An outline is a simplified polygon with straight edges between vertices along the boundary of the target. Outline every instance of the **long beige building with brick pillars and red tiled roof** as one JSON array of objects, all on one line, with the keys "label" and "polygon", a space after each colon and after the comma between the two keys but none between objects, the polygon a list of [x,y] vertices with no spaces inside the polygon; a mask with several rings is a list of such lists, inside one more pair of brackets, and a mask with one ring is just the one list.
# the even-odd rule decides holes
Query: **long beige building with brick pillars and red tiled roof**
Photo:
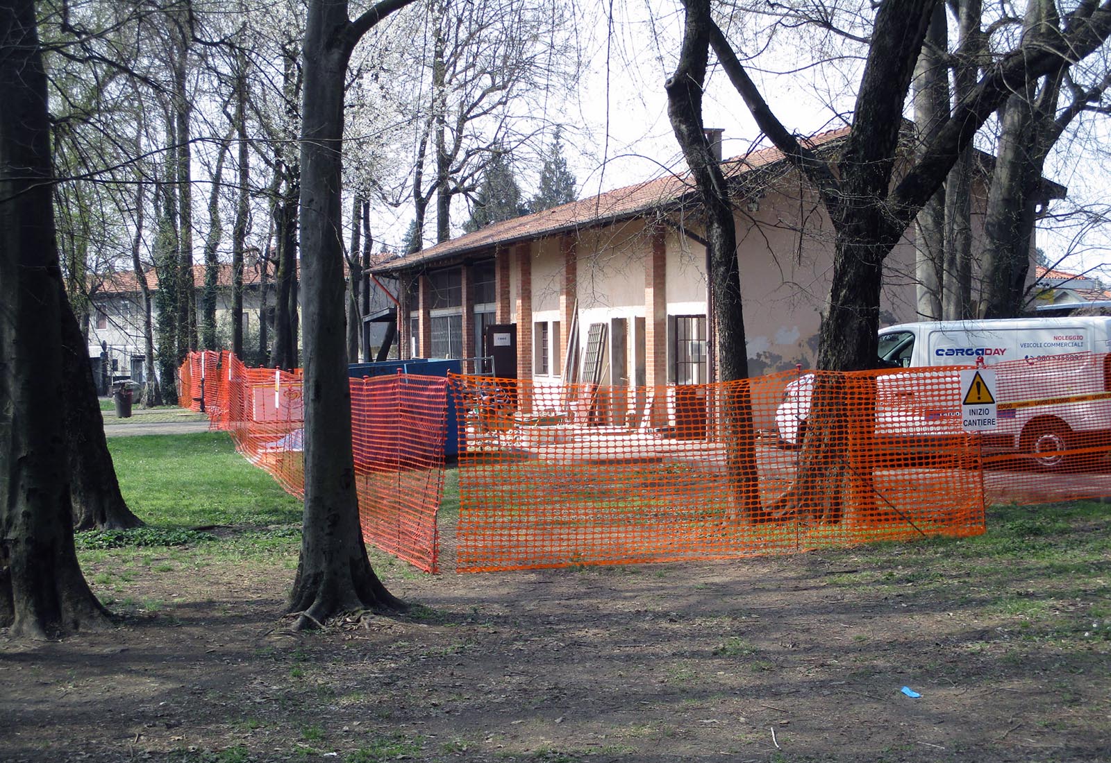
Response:
[{"label": "long beige building with brick pillars and red tiled roof", "polygon": [[[810,144],[832,156],[847,134],[823,133]],[[720,131],[708,138],[720,151]],[[810,367],[830,291],[832,225],[777,149],[721,166],[735,200],[750,372]],[[1063,193],[1048,187],[1050,195]],[[689,176],[670,174],[376,266],[376,274],[404,285],[403,355],[497,358],[502,350],[489,343],[497,327],[500,340],[514,345],[512,375],[540,385],[713,380],[713,309],[695,196]],[[978,183],[974,251],[982,248],[984,204]],[[918,319],[913,236],[912,227],[884,264],[883,324]],[[496,369],[499,376],[507,363]]]}]

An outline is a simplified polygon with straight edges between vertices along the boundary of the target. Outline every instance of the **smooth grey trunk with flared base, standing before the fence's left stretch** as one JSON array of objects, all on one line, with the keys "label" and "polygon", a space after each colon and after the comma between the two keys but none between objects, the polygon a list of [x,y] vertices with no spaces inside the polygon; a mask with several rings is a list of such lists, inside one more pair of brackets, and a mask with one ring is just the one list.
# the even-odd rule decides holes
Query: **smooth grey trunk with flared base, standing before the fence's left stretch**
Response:
[{"label": "smooth grey trunk with flared base, standing before the fence's left stretch", "polygon": [[409,0],[383,0],[358,21],[347,2],[312,0],[304,39],[301,242],[304,283],[304,522],[289,611],[309,628],[351,610],[404,604],[379,581],[359,526],[351,389],[343,337],[341,226],[343,82],[362,33]]}]

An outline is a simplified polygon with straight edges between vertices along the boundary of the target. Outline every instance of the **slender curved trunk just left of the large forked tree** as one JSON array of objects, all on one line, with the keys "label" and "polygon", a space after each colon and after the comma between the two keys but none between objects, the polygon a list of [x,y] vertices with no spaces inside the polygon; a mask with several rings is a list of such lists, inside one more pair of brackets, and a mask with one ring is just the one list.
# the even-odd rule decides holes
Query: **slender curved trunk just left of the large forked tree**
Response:
[{"label": "slender curved trunk just left of the large forked tree", "polygon": [[[709,57],[710,3],[688,2],[683,44],[675,73],[668,80],[668,118],[702,200],[705,240],[710,254],[710,284],[717,328],[721,380],[747,379],[748,352],[737,260],[737,224],[732,201],[702,125],[702,84]],[[730,519],[739,516],[758,521],[760,482],[755,460],[755,429],[747,385],[731,385],[722,401],[727,468],[732,484]]]}]

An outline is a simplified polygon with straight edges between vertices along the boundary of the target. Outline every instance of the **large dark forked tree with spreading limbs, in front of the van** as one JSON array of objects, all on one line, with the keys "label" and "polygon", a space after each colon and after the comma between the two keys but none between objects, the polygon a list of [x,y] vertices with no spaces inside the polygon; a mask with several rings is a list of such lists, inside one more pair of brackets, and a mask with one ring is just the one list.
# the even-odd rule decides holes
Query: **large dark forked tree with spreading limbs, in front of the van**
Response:
[{"label": "large dark forked tree with spreading limbs, in front of the van", "polygon": [[[1017,88],[1082,58],[1111,34],[1111,0],[1084,4],[1065,17],[1061,34],[1020,43],[987,67],[965,100],[939,121],[925,146],[898,181],[902,110],[935,0],[887,0],[875,14],[853,123],[837,159],[828,162],[793,136],[772,113],[744,65],[711,18],[709,0],[684,0],[688,34],[708,29],[710,44],[760,129],[815,189],[834,230],[833,274],[819,334],[818,367],[869,368],[877,355],[883,262],[914,216],[937,193],[977,130]],[[721,194],[695,174],[704,199]],[[729,204],[728,196],[722,203]],[[711,245],[712,246],[712,245]],[[713,254],[711,253],[711,256]],[[727,253],[734,256],[735,253]],[[780,517],[841,517],[845,476],[845,389],[820,376],[794,486],[771,507]]]}]

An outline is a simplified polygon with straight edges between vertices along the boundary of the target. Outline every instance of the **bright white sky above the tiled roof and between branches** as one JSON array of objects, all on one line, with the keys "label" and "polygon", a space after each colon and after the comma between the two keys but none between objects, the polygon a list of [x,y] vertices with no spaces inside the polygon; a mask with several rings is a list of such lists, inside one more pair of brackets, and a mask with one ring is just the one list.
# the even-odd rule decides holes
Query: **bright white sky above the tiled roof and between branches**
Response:
[{"label": "bright white sky above the tiled roof and between branches", "polygon": [[[579,197],[659,176],[685,165],[667,116],[663,83],[673,71],[682,33],[682,11],[678,0],[577,0],[578,26],[587,60],[587,71],[577,93],[563,103],[552,103],[539,114],[544,122],[562,122],[564,153],[579,182]],[[742,27],[743,29],[743,27]],[[751,30],[750,30],[751,31]],[[804,65],[811,50],[770,50],[750,64],[750,74],[761,85],[772,110],[789,130],[813,134],[844,124],[854,98],[852,62],[825,64],[794,74],[762,73],[760,67],[791,70]],[[793,44],[798,44],[794,42]],[[759,136],[748,109],[720,71],[711,73],[703,101],[707,126],[724,129],[725,156],[745,153]],[[832,108],[831,105],[832,104]],[[1105,139],[1105,129],[1099,130]],[[1107,142],[1105,140],[1103,142]],[[1089,152],[1090,153],[1090,152]],[[1051,157],[1047,176],[1067,185],[1070,194],[1103,201],[1108,179],[1102,162],[1094,156]],[[519,173],[526,195],[533,192],[534,177]],[[1111,200],[1108,200],[1111,201]],[[1060,210],[1061,204],[1054,206]],[[457,200],[452,217],[460,224],[467,216],[466,202]],[[400,242],[411,220],[411,208],[387,212],[378,222],[384,243]],[[434,222],[430,223],[434,226]],[[426,228],[426,236],[432,227]],[[1061,267],[1074,272],[1095,267],[1099,277],[1111,282],[1111,236],[1099,227],[1040,231],[1038,243],[1051,260],[1064,256]]]}]

